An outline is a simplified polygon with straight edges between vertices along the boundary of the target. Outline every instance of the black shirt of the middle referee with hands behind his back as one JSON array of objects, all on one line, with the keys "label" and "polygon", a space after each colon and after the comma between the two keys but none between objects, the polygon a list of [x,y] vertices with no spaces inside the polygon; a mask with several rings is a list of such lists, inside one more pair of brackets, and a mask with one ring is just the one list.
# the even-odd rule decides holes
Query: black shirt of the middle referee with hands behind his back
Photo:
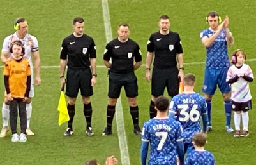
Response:
[{"label": "black shirt of the middle referee with hands behind his back", "polygon": [[141,62],[142,56],[139,45],[132,39],[122,43],[118,39],[110,41],[105,49],[103,59],[112,58],[111,72],[125,74],[133,72],[133,59]]}]

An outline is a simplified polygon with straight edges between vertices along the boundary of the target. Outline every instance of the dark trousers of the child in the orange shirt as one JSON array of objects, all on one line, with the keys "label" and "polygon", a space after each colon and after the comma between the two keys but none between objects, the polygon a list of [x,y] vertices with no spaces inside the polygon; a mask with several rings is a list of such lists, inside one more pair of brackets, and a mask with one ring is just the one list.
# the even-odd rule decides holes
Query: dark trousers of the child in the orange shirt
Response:
[{"label": "dark trousers of the child in the orange shirt", "polygon": [[27,111],[26,111],[26,103],[22,102],[22,99],[14,99],[13,101],[10,102],[11,133],[17,133],[18,107],[19,107],[19,116],[20,116],[20,130],[21,130],[21,133],[26,134]]}]

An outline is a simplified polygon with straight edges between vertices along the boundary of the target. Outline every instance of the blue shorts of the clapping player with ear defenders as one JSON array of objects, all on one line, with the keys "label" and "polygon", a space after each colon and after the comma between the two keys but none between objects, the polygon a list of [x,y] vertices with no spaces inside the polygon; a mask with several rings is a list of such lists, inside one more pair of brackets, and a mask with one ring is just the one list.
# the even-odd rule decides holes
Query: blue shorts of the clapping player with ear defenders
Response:
[{"label": "blue shorts of the clapping player with ear defenders", "polygon": [[227,70],[226,69],[208,69],[206,68],[204,72],[204,86],[202,87],[202,91],[208,95],[215,94],[215,91],[218,88],[222,93],[229,93],[230,86],[226,82],[227,78]]}]

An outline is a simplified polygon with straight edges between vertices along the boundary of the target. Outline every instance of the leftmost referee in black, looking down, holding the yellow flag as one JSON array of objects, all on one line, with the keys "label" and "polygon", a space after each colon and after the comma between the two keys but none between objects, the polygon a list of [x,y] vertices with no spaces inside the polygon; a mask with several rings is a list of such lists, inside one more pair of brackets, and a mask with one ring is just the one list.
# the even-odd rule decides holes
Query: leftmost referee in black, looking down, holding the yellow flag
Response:
[{"label": "leftmost referee in black, looking down, holding the yellow flag", "polygon": [[[75,101],[81,92],[84,103],[84,116],[86,117],[86,133],[94,135],[91,128],[92,107],[90,96],[93,95],[93,86],[96,84],[96,47],[93,39],[84,34],[84,19],[76,17],[73,20],[73,34],[63,40],[61,46],[60,78],[61,86],[66,83],[68,96],[68,128],[63,136],[73,134],[73,118],[75,116]],[[66,80],[64,72],[68,65]],[[91,66],[91,68],[90,68]]]}]

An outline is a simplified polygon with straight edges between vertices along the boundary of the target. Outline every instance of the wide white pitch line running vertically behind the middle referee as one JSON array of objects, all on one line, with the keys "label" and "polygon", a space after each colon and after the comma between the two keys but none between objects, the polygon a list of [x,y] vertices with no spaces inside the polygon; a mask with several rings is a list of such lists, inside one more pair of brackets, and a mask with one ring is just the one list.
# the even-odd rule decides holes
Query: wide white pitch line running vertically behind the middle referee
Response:
[{"label": "wide white pitch line running vertically behind the middle referee", "polygon": [[[103,11],[103,20],[106,34],[106,41],[112,40],[112,31],[109,17],[109,4],[107,0],[102,0],[102,11]],[[117,133],[119,140],[119,149],[121,152],[121,164],[130,165],[129,151],[126,140],[126,134],[124,129],[124,119],[123,119],[123,107],[121,103],[121,98],[117,100],[116,103],[116,124],[117,124]]]}]

